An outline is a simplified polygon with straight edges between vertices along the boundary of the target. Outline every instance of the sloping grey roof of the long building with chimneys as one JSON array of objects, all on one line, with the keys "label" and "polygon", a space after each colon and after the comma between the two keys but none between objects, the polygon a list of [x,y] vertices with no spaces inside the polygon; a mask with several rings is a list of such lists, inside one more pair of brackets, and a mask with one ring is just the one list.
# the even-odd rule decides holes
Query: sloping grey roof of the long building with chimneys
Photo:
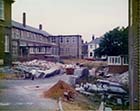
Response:
[{"label": "sloping grey roof of the long building with chimneys", "polygon": [[29,25],[26,25],[26,27],[24,27],[22,23],[19,23],[19,22],[13,21],[13,20],[12,20],[12,27],[26,30],[26,31],[30,31],[30,32],[34,32],[34,33],[38,33],[38,34],[42,34],[44,36],[50,36],[50,34],[44,30],[40,30],[40,29],[31,27]]}]

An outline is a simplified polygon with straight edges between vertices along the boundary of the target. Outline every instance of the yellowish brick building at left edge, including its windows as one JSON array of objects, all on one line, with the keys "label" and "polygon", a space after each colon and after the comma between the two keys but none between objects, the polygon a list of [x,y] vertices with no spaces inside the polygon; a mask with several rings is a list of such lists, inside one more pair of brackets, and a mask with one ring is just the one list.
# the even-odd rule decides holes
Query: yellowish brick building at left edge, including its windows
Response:
[{"label": "yellowish brick building at left edge, including its windows", "polygon": [[0,65],[11,64],[11,4],[13,0],[0,0]]}]

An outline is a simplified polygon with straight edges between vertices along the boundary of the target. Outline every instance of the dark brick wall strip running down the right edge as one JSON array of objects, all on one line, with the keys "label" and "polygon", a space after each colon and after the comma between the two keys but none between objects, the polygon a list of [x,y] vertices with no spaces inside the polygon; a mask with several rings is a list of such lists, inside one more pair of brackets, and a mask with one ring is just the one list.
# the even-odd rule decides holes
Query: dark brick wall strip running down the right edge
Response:
[{"label": "dark brick wall strip running down the right edge", "polygon": [[129,0],[130,110],[140,110],[140,0]]}]

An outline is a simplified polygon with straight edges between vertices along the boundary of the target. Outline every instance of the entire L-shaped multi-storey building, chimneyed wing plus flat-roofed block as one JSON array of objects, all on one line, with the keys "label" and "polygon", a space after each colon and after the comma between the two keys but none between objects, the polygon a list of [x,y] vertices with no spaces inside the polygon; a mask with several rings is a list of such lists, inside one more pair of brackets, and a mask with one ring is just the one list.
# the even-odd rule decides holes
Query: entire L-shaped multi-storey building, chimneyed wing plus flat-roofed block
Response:
[{"label": "entire L-shaped multi-storey building, chimneyed wing plus flat-roofed block", "polygon": [[80,35],[53,36],[39,28],[12,21],[12,58],[13,60],[45,58],[81,58],[82,39]]}]

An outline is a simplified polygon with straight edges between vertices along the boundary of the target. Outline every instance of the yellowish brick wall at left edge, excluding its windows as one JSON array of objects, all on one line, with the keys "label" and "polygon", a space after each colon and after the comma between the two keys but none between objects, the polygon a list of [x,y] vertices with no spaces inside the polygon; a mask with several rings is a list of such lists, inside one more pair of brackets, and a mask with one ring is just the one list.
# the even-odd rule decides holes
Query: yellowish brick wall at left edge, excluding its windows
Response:
[{"label": "yellowish brick wall at left edge, excluding its windows", "polygon": [[[5,35],[8,36],[9,46],[11,46],[11,3],[13,0],[4,0],[4,20],[0,20],[0,60],[4,65],[11,64],[11,47],[10,51],[5,53]],[[3,65],[3,64],[0,64]]]}]

